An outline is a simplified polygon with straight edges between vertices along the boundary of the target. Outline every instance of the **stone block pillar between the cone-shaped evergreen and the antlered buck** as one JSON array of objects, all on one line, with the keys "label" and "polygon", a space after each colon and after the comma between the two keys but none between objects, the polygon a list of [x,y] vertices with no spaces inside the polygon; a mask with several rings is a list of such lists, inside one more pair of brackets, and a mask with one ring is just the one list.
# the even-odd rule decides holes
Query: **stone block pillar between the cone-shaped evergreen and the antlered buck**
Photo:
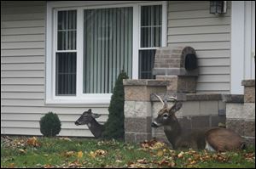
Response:
[{"label": "stone block pillar between the cone-shaped evergreen and the antlered buck", "polygon": [[142,142],[152,138],[151,93],[164,93],[169,82],[158,80],[124,80],[125,142]]}]

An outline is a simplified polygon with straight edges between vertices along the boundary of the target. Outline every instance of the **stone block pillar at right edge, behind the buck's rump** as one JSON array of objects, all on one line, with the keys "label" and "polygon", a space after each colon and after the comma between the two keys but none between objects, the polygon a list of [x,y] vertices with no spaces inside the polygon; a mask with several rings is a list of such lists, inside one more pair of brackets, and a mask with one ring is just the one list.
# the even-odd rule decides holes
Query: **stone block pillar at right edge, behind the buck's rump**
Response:
[{"label": "stone block pillar at right edge, behind the buck's rump", "polygon": [[235,130],[249,144],[255,144],[255,80],[242,81],[244,99],[240,103],[227,104],[228,128]]}]

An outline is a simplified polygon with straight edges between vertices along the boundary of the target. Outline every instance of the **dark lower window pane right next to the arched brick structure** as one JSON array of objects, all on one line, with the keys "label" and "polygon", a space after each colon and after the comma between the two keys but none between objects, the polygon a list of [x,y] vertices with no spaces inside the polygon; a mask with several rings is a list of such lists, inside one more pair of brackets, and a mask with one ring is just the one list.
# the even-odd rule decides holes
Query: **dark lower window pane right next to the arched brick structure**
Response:
[{"label": "dark lower window pane right next to the arched brick structure", "polygon": [[152,69],[154,68],[155,49],[139,51],[139,78],[154,79]]}]

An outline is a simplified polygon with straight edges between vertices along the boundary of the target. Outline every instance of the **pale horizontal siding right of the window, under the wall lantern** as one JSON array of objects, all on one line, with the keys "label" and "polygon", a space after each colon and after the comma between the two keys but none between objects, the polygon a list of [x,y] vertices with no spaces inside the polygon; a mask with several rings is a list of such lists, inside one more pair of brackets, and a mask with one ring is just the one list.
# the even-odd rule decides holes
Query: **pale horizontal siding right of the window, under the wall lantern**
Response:
[{"label": "pale horizontal siding right of the window, under the wall lantern", "polygon": [[230,2],[209,13],[209,1],[168,3],[168,46],[191,46],[198,56],[198,93],[230,93]]}]

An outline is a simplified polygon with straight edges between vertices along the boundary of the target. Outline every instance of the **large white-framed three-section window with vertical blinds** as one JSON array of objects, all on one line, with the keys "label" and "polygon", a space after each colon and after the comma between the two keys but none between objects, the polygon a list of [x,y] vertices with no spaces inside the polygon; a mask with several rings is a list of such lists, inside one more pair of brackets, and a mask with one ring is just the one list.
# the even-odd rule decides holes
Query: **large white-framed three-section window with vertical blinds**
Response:
[{"label": "large white-framed three-section window with vertical blinds", "polygon": [[155,50],[165,44],[164,2],[89,3],[48,3],[46,102],[108,103],[121,70],[154,78]]}]

